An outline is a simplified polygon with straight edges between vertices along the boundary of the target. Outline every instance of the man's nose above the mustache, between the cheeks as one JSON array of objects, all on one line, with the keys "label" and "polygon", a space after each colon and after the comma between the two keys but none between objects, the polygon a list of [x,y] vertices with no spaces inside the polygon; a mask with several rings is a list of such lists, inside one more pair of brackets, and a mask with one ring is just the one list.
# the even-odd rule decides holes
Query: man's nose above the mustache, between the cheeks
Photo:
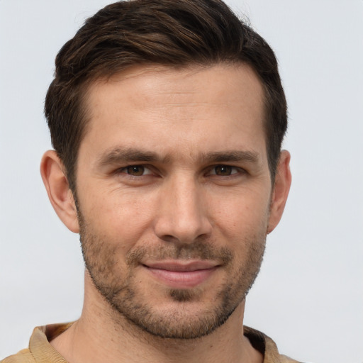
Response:
[{"label": "man's nose above the mustache, between the cheeks", "polygon": [[174,177],[160,190],[155,218],[158,238],[181,244],[211,235],[208,203],[193,177]]}]

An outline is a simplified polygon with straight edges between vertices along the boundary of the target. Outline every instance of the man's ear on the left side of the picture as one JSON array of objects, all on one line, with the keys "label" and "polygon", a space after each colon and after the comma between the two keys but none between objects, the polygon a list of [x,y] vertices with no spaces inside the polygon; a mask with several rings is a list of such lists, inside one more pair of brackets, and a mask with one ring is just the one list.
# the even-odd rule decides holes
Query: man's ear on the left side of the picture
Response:
[{"label": "man's ear on the left side of the picture", "polygon": [[54,150],[48,150],[43,155],[40,174],[55,213],[69,230],[79,233],[77,208],[65,176],[65,167]]}]

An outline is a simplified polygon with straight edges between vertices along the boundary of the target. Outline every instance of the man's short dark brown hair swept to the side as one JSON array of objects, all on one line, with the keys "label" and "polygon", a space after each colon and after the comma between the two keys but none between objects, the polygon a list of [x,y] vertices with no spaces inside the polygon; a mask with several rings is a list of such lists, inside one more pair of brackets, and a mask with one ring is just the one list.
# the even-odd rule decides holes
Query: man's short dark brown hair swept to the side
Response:
[{"label": "man's short dark brown hair swept to the side", "polygon": [[131,0],[108,5],[87,19],[55,60],[45,116],[72,191],[86,127],[87,85],[133,65],[220,62],[250,65],[264,86],[267,155],[274,180],[287,115],[277,60],[269,45],[220,0]]}]

